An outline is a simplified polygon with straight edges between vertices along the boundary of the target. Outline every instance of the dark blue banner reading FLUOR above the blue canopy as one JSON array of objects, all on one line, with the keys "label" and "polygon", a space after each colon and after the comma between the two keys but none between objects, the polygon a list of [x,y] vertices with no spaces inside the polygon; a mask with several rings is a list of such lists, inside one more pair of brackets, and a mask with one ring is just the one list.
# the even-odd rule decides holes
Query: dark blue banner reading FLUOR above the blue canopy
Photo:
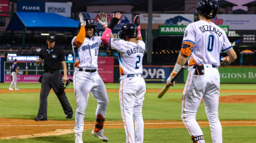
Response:
[{"label": "dark blue banner reading FLUOR above the blue canopy", "polygon": [[45,12],[45,2],[17,1],[17,12]]}]

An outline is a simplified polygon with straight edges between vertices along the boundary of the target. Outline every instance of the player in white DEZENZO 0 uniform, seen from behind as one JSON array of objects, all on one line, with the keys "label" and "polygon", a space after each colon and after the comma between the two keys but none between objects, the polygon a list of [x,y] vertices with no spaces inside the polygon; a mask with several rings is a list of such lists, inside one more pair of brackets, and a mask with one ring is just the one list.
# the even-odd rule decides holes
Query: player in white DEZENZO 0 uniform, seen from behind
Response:
[{"label": "player in white DEZENZO 0 uniform, seen from behind", "polygon": [[[225,31],[212,23],[219,5],[215,0],[201,0],[197,5],[200,21],[187,25],[184,31],[182,47],[178,60],[167,79],[167,85],[173,86],[171,79],[180,68],[189,64],[189,74],[182,93],[182,121],[194,143],[204,142],[204,135],[195,119],[198,106],[204,100],[205,111],[214,143],[222,143],[218,105],[220,96],[220,73],[218,66],[234,62],[237,55],[229,42]],[[221,59],[220,52],[228,56]]]}]

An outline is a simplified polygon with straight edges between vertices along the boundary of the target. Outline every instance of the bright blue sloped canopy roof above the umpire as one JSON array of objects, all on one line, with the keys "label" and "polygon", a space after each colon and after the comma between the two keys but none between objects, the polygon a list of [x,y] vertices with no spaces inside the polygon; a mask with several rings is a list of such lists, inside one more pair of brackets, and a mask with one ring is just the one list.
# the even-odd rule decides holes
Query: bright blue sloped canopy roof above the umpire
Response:
[{"label": "bright blue sloped canopy roof above the umpire", "polygon": [[[26,31],[76,31],[78,21],[55,13],[15,12],[6,31],[22,31],[25,44]],[[44,40],[45,41],[45,40]]]}]

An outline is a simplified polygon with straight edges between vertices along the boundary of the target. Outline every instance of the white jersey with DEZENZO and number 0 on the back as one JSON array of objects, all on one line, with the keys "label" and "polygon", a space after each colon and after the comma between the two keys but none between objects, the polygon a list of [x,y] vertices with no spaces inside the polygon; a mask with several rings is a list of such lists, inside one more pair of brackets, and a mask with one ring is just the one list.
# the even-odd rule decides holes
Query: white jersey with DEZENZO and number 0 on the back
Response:
[{"label": "white jersey with DEZENZO and number 0 on the back", "polygon": [[182,42],[191,42],[191,60],[196,64],[220,66],[220,52],[232,48],[223,29],[206,21],[197,21],[187,25]]}]

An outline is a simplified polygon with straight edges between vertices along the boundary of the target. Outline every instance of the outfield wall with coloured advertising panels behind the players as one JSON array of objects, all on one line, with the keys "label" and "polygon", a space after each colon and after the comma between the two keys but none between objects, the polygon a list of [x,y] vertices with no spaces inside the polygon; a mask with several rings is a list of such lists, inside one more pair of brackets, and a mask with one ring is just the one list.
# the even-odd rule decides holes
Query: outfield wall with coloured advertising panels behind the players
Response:
[{"label": "outfield wall with coloured advertising panels behind the players", "polygon": [[[98,72],[100,77],[106,83],[119,82],[119,66],[114,65],[114,59],[99,60]],[[1,62],[3,63],[3,62]],[[1,64],[1,82],[11,82],[10,66],[12,62],[4,62]],[[43,73],[43,66],[37,65],[35,62],[18,63],[19,77],[18,82],[37,82],[37,79]],[[173,66],[143,66],[143,77],[147,83],[165,83],[169,74],[173,70]],[[256,66],[228,66],[220,67],[221,83],[256,83]],[[72,79],[74,73],[74,63],[67,63],[67,75]],[[175,80],[176,83],[184,83],[186,81],[188,71],[183,71]]]}]

